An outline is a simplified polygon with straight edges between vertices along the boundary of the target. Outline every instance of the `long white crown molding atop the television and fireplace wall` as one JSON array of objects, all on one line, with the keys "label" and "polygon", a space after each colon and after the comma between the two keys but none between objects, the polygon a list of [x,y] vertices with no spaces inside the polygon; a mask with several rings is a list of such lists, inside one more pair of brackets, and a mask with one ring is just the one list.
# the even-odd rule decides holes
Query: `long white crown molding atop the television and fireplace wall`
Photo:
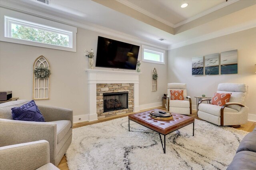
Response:
[{"label": "long white crown molding atop the television and fireplace wall", "polygon": [[22,13],[29,14],[32,16],[37,16],[40,18],[45,18],[45,19],[48,19],[51,21],[60,22],[63,24],[68,24],[71,26],[84,28],[86,30],[91,30],[94,32],[106,34],[109,36],[121,38],[121,39],[128,40],[131,42],[141,43],[144,45],[150,45],[150,46],[153,46],[153,47],[156,47],[159,49],[167,50],[167,45],[157,44],[155,42],[150,42],[150,40],[145,40],[145,39],[143,40],[142,38],[138,38],[138,37],[132,36],[130,34],[126,34],[123,32],[116,31],[116,30],[112,30],[110,28],[92,24],[90,22],[85,22],[85,21],[81,21],[81,20],[77,20],[77,19],[75,20],[73,18],[69,18],[66,16],[60,16],[58,14],[54,14],[52,12],[47,12],[47,11],[41,10],[39,8],[33,8],[31,6],[26,6],[22,3],[20,3],[19,1],[14,2],[14,1],[8,1],[8,0],[1,0],[0,7],[7,8],[9,10],[15,10],[17,12],[22,12]]}]

